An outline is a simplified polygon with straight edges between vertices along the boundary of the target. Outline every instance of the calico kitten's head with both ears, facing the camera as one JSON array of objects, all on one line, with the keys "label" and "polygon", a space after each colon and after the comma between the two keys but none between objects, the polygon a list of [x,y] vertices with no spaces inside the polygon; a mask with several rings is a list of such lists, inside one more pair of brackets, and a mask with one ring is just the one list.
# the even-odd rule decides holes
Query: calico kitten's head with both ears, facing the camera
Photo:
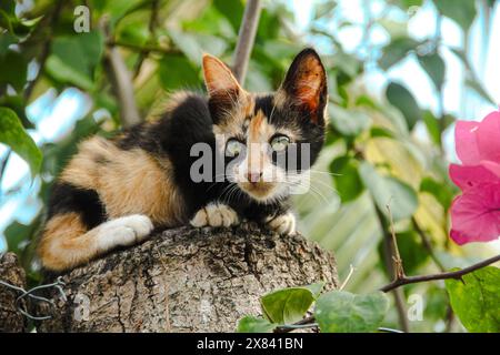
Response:
[{"label": "calico kitten's head with both ears, facing the camera", "polygon": [[203,73],[226,178],[261,203],[304,187],[324,140],[327,75],[318,53],[300,52],[269,94],[244,91],[211,55],[203,57]]}]

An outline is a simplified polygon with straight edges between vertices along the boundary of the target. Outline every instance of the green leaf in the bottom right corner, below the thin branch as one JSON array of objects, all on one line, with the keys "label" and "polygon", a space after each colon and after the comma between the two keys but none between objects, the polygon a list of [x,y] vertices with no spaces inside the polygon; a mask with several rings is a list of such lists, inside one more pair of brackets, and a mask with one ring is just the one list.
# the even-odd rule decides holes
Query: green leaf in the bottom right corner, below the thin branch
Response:
[{"label": "green leaf in the bottom right corner, below the thin branch", "polygon": [[444,282],[451,307],[473,333],[500,333],[500,268],[488,266]]}]

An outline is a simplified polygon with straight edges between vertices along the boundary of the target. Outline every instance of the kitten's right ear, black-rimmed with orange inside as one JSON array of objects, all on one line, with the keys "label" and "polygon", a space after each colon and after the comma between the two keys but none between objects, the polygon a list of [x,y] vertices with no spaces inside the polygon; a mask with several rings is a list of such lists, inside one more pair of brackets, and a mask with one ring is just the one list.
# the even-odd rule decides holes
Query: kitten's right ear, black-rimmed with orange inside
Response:
[{"label": "kitten's right ear, black-rimmed with orange inside", "polygon": [[313,49],[297,54],[278,93],[284,102],[310,111],[312,120],[322,116],[328,100],[327,73]]}]

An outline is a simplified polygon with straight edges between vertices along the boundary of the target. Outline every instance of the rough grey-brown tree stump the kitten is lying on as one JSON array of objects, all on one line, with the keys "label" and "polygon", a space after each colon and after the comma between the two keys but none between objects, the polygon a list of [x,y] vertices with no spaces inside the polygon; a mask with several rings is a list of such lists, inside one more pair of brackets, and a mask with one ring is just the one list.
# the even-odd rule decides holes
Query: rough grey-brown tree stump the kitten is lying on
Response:
[{"label": "rough grey-brown tree stump the kitten is lying on", "polygon": [[[331,254],[300,235],[257,226],[181,227],[63,275],[53,318],[38,332],[233,332],[272,290],[326,281]],[[42,310],[47,312],[48,310]]]}]

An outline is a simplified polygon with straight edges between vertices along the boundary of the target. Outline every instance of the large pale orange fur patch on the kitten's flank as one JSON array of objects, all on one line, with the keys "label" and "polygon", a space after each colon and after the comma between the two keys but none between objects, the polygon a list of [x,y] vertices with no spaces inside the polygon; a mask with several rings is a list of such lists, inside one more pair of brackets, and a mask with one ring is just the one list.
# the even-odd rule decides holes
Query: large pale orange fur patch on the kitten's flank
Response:
[{"label": "large pale orange fur patch on the kitten's flank", "polygon": [[97,191],[110,219],[146,214],[154,224],[177,226],[186,217],[172,173],[167,159],[140,149],[123,151],[96,136],[80,145],[61,180]]}]

